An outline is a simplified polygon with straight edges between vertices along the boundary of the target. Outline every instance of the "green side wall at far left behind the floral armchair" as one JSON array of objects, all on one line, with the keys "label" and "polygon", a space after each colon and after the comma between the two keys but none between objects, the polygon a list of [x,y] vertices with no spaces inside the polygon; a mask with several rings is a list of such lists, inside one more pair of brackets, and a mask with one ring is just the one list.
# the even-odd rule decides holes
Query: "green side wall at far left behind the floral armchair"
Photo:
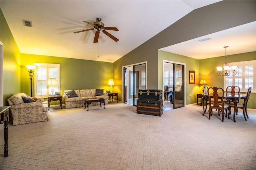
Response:
[{"label": "green side wall at far left behind the floral armchair", "polygon": [[0,10],[0,41],[4,44],[3,80],[4,106],[13,94],[20,93],[20,50],[12,36],[8,24]]}]

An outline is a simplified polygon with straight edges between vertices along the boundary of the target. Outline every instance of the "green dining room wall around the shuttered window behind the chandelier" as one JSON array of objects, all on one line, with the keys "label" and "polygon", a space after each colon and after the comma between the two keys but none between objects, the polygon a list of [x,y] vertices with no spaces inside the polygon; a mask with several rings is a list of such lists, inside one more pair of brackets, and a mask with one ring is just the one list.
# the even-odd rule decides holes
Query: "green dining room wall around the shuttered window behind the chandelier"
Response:
[{"label": "green dining room wall around the shuttered window behind the chandelier", "polygon": [[[250,53],[242,53],[235,55],[227,55],[227,61],[229,63],[239,61],[256,60],[256,51]],[[225,56],[214,57],[209,59],[200,59],[200,79],[205,79],[208,87],[224,87],[224,78],[217,75],[216,67],[222,66],[225,62]],[[256,93],[251,93],[247,107],[250,109],[256,109]],[[243,102],[243,100],[240,100]]]}]

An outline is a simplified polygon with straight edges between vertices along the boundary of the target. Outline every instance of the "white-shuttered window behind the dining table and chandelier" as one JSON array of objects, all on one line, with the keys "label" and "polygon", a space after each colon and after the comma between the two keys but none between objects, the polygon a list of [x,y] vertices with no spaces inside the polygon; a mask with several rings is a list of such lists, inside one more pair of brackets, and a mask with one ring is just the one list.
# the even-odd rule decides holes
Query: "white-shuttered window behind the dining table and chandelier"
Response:
[{"label": "white-shuttered window behind the dining table and chandelier", "polygon": [[[247,92],[252,87],[252,92],[256,93],[256,60],[230,63],[236,65],[236,75],[224,76],[224,89],[230,85],[240,88],[240,92]],[[230,70],[232,73],[232,69]]]}]

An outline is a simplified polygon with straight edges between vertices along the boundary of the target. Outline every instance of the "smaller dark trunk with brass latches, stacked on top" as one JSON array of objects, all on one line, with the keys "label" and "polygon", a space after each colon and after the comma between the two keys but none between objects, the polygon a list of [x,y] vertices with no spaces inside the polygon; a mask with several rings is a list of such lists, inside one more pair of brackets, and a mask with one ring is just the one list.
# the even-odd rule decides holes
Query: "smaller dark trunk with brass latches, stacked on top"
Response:
[{"label": "smaller dark trunk with brass latches, stacked on top", "polygon": [[163,90],[150,90],[150,89],[141,89],[138,90],[138,99],[141,100],[162,100]]}]

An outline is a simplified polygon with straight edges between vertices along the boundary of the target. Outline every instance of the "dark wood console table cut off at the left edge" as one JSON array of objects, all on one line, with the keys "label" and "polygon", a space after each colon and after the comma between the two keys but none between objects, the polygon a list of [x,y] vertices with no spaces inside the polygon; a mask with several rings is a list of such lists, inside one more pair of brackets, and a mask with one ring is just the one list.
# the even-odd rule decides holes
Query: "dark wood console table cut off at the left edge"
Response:
[{"label": "dark wood console table cut off at the left edge", "polygon": [[0,123],[4,124],[4,157],[8,156],[8,124],[9,124],[9,109],[10,106],[1,106],[0,107],[0,113],[1,113],[1,119]]}]

